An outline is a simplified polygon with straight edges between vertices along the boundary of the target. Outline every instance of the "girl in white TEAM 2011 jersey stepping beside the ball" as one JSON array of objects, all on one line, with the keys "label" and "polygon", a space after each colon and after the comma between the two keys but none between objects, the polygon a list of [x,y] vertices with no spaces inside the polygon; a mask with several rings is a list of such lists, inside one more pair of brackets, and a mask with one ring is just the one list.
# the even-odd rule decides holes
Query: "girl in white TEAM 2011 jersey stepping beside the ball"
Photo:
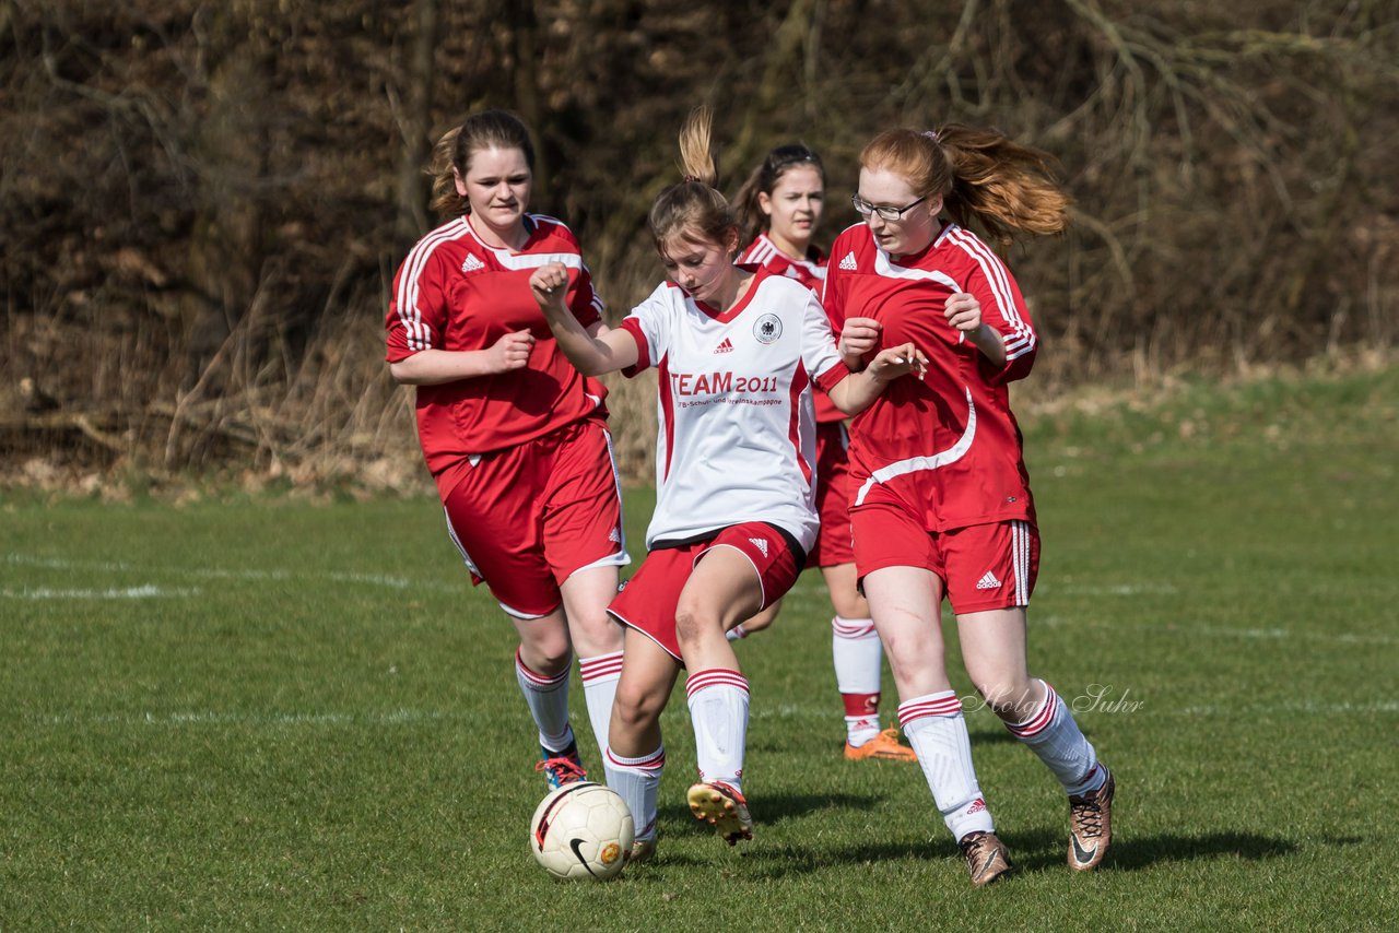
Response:
[{"label": "girl in white TEAM 2011 jersey stepping beside the ball", "polygon": [[730,845],[751,838],[748,683],[725,631],[781,597],[816,540],[811,383],[855,413],[919,359],[909,344],[849,373],[810,290],[733,264],[739,231],[713,189],[706,108],[686,123],[680,148],[687,178],[656,197],[649,218],[670,281],[617,329],[589,334],[568,313],[564,266],[530,280],[581,372],[659,375],[649,554],[609,607],[628,631],[604,761],[635,818],[634,859],[655,850],[660,712],[681,667],[700,769],[690,809]]}]

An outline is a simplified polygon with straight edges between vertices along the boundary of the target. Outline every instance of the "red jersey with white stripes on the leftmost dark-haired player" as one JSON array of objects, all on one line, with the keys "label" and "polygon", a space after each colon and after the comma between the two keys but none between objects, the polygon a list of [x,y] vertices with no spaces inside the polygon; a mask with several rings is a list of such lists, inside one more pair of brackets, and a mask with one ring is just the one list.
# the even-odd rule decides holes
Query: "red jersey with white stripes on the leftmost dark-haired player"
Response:
[{"label": "red jersey with white stripes on the leftmost dark-haired player", "polygon": [[385,320],[389,362],[422,350],[487,350],[516,330],[534,336],[529,365],[497,375],[418,386],[422,455],[434,476],[464,456],[513,448],[593,414],[607,390],[558,350],[529,277],[544,263],[571,270],[568,306],[589,327],[602,318],[578,239],[562,222],[526,215],[519,250],[487,246],[466,217],[418,241],[393,280]]}]

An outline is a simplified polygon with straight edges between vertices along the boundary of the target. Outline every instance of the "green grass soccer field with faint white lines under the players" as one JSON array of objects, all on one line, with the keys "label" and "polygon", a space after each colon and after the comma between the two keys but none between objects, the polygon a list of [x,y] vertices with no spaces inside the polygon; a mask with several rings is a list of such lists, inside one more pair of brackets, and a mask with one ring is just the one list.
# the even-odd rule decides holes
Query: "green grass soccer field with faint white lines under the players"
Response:
[{"label": "green grass soccer field with faint white lines under the players", "polygon": [[[1080,698],[1119,782],[1093,876],[1063,864],[1058,785],[989,712],[972,748],[1018,866],[989,890],[916,767],[839,757],[814,574],[739,645],[755,841],[730,850],[686,811],[677,695],[659,859],[560,884],[526,849],[544,789],[511,628],[435,499],[15,492],[0,929],[1393,929],[1399,369],[1084,399],[1024,427],[1031,666]],[[646,492],[628,506],[639,560]],[[576,677],[574,701],[582,725]]]}]

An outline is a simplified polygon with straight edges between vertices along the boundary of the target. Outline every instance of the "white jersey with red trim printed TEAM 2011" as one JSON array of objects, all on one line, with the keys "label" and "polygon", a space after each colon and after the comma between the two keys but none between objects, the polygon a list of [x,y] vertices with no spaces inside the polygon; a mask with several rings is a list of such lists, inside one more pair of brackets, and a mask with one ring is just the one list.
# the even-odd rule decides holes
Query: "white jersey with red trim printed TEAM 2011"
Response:
[{"label": "white jersey with red trim printed TEAM 2011", "polygon": [[656,511],[646,547],[768,522],[803,551],[816,543],[816,413],[811,382],[849,371],[816,295],[755,273],[725,313],[665,283],[621,326],[637,339],[631,376],[659,375]]}]

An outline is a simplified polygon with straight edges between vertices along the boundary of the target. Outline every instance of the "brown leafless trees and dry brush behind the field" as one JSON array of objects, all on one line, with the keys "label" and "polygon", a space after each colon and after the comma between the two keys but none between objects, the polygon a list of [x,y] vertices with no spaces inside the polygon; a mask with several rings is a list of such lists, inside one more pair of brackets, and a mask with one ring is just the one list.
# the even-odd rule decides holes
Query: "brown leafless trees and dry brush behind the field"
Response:
[{"label": "brown leafless trees and dry brush behind the field", "polygon": [[[421,483],[383,313],[431,143],[485,106],[614,318],[709,102],[730,193],[823,154],[824,243],[881,129],[1056,155],[1072,229],[1007,253],[1041,389],[1386,351],[1396,101],[1396,0],[0,0],[0,481]],[[645,478],[653,387],[611,385]]]}]

